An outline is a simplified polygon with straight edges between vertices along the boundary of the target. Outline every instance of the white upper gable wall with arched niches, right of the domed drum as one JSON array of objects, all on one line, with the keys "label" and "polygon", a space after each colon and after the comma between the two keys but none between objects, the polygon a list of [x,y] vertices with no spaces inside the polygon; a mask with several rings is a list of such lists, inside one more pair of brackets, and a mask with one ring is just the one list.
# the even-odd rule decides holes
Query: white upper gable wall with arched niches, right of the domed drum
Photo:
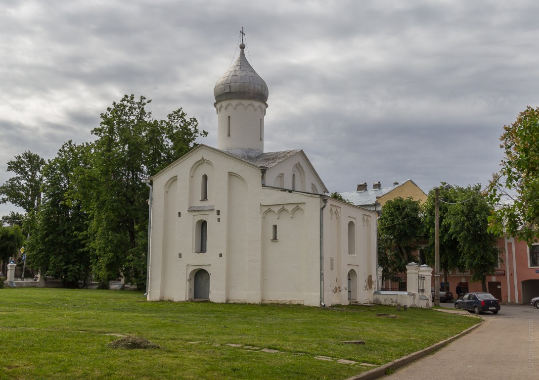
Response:
[{"label": "white upper gable wall with arched niches, right of the domed drum", "polygon": [[314,185],[317,194],[324,194],[323,183],[319,181],[319,178],[314,174],[313,169],[301,153],[296,153],[292,157],[288,157],[277,165],[268,168],[266,172],[266,184],[273,186],[275,184],[275,178],[282,173],[284,175],[284,186],[282,187],[285,189],[292,189],[292,172],[297,172],[297,169],[294,168],[296,165],[300,165],[305,173],[303,184],[299,183],[298,175],[296,175],[296,190],[312,192],[312,186]]}]

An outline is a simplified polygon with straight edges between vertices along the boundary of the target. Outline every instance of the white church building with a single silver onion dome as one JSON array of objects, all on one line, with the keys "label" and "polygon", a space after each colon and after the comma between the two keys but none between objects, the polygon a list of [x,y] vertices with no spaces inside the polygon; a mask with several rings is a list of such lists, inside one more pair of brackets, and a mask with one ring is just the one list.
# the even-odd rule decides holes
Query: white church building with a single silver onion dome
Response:
[{"label": "white church building with a single silver onion dome", "polygon": [[217,148],[151,178],[147,299],[371,302],[376,212],[329,198],[301,149],[264,152],[268,88],[244,49],[213,89]]}]

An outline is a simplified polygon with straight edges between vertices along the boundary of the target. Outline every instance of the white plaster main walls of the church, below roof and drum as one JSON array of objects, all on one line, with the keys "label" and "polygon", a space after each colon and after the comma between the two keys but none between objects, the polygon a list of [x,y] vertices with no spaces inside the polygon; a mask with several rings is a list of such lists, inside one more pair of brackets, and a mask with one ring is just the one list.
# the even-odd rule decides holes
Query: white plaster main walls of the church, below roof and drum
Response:
[{"label": "white plaster main walls of the church, below roof and drum", "polygon": [[[200,199],[204,174],[209,178],[205,201]],[[259,168],[205,146],[153,179],[148,300],[189,300],[194,273],[204,268],[210,273],[213,302],[319,305],[320,196],[262,188]],[[352,268],[357,273],[357,301],[372,300],[367,279],[369,273],[376,273],[375,216],[328,200],[323,212],[327,305],[348,303],[347,274]],[[364,224],[365,217],[371,218],[370,225]],[[193,242],[201,219],[208,223],[207,251],[197,253]],[[355,255],[348,255],[351,219],[356,221]],[[271,241],[274,224],[278,241]],[[334,258],[333,270],[330,258]],[[341,291],[333,292],[335,287]]]}]

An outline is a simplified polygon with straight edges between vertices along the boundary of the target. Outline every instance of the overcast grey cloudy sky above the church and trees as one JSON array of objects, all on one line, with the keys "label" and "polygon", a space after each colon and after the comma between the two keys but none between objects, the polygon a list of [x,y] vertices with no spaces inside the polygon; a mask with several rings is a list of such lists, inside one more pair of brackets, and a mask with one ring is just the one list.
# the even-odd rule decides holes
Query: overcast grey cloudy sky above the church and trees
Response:
[{"label": "overcast grey cloudy sky above the church and trees", "polygon": [[157,119],[182,107],[216,146],[213,86],[243,26],[269,88],[265,151],[305,150],[331,192],[485,185],[503,126],[539,105],[538,14],[533,0],[2,0],[0,183],[25,150],[92,141],[123,94]]}]

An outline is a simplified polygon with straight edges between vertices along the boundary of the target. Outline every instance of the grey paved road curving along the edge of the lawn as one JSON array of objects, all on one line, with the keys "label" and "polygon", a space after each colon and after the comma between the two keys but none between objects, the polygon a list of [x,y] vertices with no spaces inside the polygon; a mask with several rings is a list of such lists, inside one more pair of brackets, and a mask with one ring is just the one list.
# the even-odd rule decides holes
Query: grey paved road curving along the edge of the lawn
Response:
[{"label": "grey paved road curving along the edge of the lawn", "polygon": [[482,316],[485,321],[471,333],[384,378],[539,379],[539,313]]}]

